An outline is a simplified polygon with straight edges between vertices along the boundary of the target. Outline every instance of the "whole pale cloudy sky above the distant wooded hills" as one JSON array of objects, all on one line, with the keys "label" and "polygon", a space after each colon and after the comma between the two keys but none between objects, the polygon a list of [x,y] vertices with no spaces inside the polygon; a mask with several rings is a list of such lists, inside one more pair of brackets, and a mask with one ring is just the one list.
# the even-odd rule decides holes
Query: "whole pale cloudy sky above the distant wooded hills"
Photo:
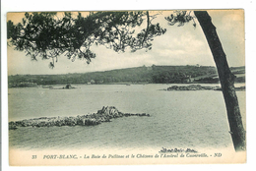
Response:
[{"label": "whole pale cloudy sky above the distant wooded hills", "polygon": [[[210,10],[209,15],[217,28],[230,67],[245,66],[244,12],[243,10]],[[152,66],[152,65],[203,65],[215,66],[202,28],[197,23],[188,23],[183,27],[168,26],[164,17],[170,11],[162,12],[155,22],[166,28],[165,34],[156,37],[153,48],[135,53],[130,51],[116,53],[104,46],[93,46],[96,58],[88,65],[85,60],[72,62],[66,56],[58,58],[54,69],[49,69],[49,60],[32,61],[24,52],[8,47],[8,75],[16,74],[67,74],[106,71],[113,69]],[[23,14],[9,14],[8,20],[21,22]]]}]

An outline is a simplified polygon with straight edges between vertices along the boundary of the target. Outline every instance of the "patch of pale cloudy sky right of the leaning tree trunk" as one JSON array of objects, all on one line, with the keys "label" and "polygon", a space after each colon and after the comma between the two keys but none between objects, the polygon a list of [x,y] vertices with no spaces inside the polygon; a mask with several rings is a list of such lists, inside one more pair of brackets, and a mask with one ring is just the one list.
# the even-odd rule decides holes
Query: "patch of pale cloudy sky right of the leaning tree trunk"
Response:
[{"label": "patch of pale cloudy sky right of the leaning tree trunk", "polygon": [[222,10],[209,12],[223,44],[229,66],[245,65],[244,11]]}]

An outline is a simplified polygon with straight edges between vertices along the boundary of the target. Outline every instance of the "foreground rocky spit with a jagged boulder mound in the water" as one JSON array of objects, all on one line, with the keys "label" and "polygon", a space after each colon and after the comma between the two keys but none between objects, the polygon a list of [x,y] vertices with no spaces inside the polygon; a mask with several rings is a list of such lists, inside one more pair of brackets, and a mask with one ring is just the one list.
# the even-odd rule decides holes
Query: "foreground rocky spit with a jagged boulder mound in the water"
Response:
[{"label": "foreground rocky spit with a jagged boulder mound in the water", "polygon": [[95,126],[102,122],[111,122],[112,118],[128,116],[150,116],[146,113],[122,113],[114,106],[103,106],[96,113],[77,117],[40,117],[22,121],[9,122],[9,130],[16,130],[19,127],[61,127],[61,126]]}]

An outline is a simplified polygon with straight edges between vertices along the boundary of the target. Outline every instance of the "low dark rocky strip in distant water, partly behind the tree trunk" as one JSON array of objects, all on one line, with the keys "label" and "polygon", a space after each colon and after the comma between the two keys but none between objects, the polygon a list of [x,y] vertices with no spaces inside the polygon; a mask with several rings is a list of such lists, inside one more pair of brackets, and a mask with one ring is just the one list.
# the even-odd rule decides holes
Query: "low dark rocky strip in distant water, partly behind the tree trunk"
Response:
[{"label": "low dark rocky strip in distant water, partly behind the tree trunk", "polygon": [[[202,86],[202,85],[184,85],[184,86],[178,86],[178,85],[172,85],[167,87],[167,89],[163,89],[167,91],[171,90],[222,90],[222,87],[220,86]],[[235,87],[235,90],[245,90],[245,86]]]}]

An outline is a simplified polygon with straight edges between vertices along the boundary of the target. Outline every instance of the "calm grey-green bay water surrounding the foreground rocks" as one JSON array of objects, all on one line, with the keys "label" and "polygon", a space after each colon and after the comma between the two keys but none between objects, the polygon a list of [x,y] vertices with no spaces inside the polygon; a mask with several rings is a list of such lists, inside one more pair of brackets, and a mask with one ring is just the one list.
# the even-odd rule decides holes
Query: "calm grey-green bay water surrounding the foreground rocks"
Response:
[{"label": "calm grey-green bay water surrounding the foreground rocks", "polygon": [[[77,116],[102,106],[151,117],[123,117],[91,127],[19,128],[10,147],[232,148],[221,91],[164,91],[170,85],[75,85],[76,89],[9,89],[9,121]],[[236,92],[245,123],[245,91]],[[244,125],[245,126],[245,125]]]}]

